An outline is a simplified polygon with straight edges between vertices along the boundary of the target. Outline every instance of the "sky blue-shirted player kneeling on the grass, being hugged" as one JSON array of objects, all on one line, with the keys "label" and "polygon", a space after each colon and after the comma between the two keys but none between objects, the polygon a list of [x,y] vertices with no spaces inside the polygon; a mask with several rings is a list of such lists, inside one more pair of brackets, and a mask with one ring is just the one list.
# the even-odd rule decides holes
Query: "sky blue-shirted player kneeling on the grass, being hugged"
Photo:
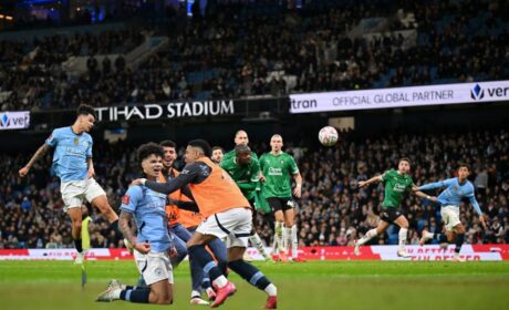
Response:
[{"label": "sky blue-shirted player kneeling on the grass, being hugged", "polygon": [[[145,177],[157,182],[163,170],[164,152],[155,143],[138,148]],[[131,223],[135,219],[137,237]],[[122,198],[120,227],[134,248],[134,258],[146,287],[124,286],[112,280],[96,301],[126,300],[137,303],[169,304],[173,302],[174,277],[170,257],[176,256],[166,216],[166,195],[144,185],[132,186]]]}]

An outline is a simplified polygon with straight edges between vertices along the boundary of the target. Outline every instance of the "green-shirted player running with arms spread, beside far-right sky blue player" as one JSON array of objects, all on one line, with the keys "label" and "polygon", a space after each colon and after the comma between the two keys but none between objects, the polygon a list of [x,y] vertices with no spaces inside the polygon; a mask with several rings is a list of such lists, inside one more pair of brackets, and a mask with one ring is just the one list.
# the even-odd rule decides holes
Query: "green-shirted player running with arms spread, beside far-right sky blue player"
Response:
[{"label": "green-shirted player running with arms spread, beside far-right sky blue player", "polygon": [[436,202],[436,197],[430,197],[423,192],[419,192],[414,185],[412,177],[408,175],[411,170],[411,163],[408,158],[401,158],[397,170],[391,169],[383,175],[370,178],[368,180],[359,182],[359,187],[363,188],[372,183],[382,182],[385,187],[384,202],[382,203],[382,214],[380,216],[380,224],[376,228],[371,229],[361,239],[355,241],[354,254],[360,255],[360,247],[371,240],[372,238],[384,234],[388,226],[394,223],[399,226],[399,247],[397,256],[409,257],[405,251],[405,245],[408,232],[408,220],[401,211],[401,203],[405,193],[411,192],[417,197],[427,198]]}]

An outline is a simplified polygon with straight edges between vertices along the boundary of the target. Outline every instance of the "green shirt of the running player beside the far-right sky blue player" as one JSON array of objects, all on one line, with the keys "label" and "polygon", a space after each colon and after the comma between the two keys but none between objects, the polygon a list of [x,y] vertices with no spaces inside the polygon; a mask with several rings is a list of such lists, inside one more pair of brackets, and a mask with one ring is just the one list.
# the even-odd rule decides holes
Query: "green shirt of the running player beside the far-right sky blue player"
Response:
[{"label": "green shirt of the running player beside the far-right sky blue player", "polygon": [[402,175],[395,169],[387,170],[382,176],[382,182],[385,186],[385,197],[382,206],[386,208],[398,208],[405,192],[414,186],[409,175]]}]

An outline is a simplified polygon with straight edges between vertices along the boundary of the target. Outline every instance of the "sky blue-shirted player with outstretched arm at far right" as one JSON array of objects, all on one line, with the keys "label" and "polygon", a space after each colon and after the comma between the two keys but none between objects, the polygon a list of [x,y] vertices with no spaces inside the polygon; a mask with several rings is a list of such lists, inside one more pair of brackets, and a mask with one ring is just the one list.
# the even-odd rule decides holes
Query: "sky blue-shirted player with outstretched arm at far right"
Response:
[{"label": "sky blue-shirted player with outstretched arm at far right", "polygon": [[459,251],[461,250],[463,242],[465,241],[465,227],[459,220],[459,205],[464,198],[468,198],[470,200],[474,209],[479,215],[479,221],[486,229],[485,218],[482,217],[479,204],[477,203],[474,185],[467,179],[469,174],[470,166],[467,164],[460,164],[458,167],[458,177],[429,183],[418,188],[419,190],[446,188],[437,197],[437,202],[442,205],[440,214],[442,220],[445,224],[446,235],[437,232],[433,234],[427,230],[423,230],[420,245],[424,245],[430,239],[436,239],[440,244],[453,244],[453,241],[456,240],[455,256],[453,258],[455,261],[461,260],[459,258]]}]

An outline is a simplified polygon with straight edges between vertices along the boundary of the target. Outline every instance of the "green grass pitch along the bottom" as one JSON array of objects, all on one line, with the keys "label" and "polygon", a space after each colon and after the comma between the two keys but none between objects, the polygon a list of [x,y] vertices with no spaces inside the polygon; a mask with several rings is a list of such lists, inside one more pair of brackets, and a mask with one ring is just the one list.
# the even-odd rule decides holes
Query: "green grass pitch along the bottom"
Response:
[{"label": "green grass pitch along the bottom", "polygon": [[[254,262],[278,287],[279,309],[509,309],[509,262],[309,261]],[[133,261],[0,261],[0,309],[160,309],[125,301],[94,302],[110,279],[135,283]],[[220,309],[261,309],[266,294],[237,275],[237,293]],[[189,304],[187,262],[175,270],[173,308]]]}]

